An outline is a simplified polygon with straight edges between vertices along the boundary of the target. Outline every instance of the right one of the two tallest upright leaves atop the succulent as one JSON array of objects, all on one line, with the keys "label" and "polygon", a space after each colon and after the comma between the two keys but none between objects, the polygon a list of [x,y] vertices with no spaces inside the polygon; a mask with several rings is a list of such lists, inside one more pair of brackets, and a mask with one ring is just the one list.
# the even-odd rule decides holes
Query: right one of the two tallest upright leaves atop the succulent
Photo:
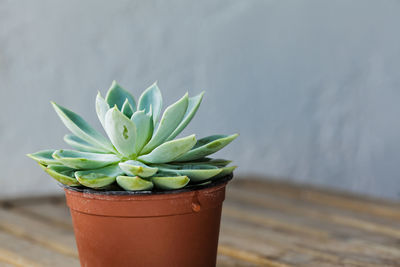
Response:
[{"label": "right one of the two tallest upright leaves atop the succulent", "polygon": [[154,125],[158,121],[162,107],[162,95],[157,86],[157,82],[148,87],[140,96],[138,110],[144,110],[146,113],[152,111]]}]

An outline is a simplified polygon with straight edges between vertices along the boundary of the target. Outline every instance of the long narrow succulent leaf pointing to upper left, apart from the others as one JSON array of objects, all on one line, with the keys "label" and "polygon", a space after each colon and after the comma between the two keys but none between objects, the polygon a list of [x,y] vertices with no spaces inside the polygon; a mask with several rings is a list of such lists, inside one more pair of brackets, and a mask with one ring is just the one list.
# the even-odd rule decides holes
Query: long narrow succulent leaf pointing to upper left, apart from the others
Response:
[{"label": "long narrow succulent leaf pointing to upper left, apart from the others", "polygon": [[64,125],[73,134],[96,147],[101,147],[105,151],[114,151],[110,141],[92,128],[81,116],[54,102],[51,103]]}]

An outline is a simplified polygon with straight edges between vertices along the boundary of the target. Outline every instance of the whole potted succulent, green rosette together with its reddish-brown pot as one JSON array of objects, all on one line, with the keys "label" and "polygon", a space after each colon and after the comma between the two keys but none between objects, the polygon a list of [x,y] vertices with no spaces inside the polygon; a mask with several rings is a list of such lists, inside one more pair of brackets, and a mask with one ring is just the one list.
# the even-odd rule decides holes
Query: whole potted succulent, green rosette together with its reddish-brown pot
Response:
[{"label": "whole potted succulent, green rosette together with its reddish-brown pot", "polygon": [[115,81],[96,113],[108,139],[52,105],[74,150],[28,154],[64,187],[82,266],[215,266],[222,202],[236,166],[208,156],[238,135],[175,139],[203,93],[165,109],[154,83],[134,97]]}]

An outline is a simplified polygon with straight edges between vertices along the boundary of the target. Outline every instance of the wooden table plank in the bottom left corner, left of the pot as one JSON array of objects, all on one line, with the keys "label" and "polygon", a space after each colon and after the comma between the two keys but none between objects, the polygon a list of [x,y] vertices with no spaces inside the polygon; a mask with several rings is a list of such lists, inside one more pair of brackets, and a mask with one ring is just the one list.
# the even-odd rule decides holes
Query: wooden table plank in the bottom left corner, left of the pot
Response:
[{"label": "wooden table plank in the bottom left corner, left of the pot", "polygon": [[79,260],[75,257],[55,253],[3,231],[0,231],[0,244],[0,266],[6,266],[1,261],[12,266],[79,266]]}]

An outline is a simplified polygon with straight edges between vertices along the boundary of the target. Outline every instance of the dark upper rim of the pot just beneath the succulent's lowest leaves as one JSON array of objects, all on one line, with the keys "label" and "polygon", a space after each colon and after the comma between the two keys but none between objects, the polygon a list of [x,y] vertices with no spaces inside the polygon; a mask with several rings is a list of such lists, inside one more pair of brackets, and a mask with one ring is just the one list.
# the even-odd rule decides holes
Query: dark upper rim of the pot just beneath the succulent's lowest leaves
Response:
[{"label": "dark upper rim of the pot just beneath the succulent's lowest leaves", "polygon": [[104,195],[104,196],[154,196],[154,195],[173,195],[185,192],[198,191],[206,188],[215,187],[220,184],[224,184],[232,180],[233,173],[225,175],[217,180],[211,180],[211,183],[203,185],[188,185],[181,189],[174,190],[144,190],[144,191],[125,191],[125,190],[106,190],[106,189],[91,189],[87,187],[74,187],[58,183],[63,189],[74,191],[77,193],[89,194],[89,195]]}]

